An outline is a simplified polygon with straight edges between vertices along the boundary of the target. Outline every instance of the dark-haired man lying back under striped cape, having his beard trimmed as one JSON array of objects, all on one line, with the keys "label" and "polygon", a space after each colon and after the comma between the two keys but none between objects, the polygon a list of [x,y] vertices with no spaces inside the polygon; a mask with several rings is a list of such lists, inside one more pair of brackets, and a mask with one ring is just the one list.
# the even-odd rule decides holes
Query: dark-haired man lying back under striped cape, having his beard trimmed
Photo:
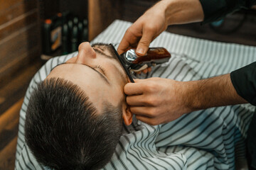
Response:
[{"label": "dark-haired man lying back under striped cape, having his beard trimmed", "polygon": [[[199,79],[177,57],[147,77]],[[49,60],[23,103],[26,144],[16,169],[235,169],[245,160],[242,118],[250,118],[250,107],[209,108],[153,126],[129,111],[127,83],[110,45],[84,42],[78,54]]]}]

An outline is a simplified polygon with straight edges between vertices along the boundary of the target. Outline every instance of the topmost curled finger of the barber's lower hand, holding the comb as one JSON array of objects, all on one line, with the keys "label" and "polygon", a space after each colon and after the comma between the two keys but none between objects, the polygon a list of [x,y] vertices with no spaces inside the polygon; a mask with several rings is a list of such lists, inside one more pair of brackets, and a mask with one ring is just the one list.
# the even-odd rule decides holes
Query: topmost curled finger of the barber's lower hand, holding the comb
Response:
[{"label": "topmost curled finger of the barber's lower hand, holding the comb", "polygon": [[124,86],[124,93],[127,95],[139,95],[143,94],[143,88],[142,84],[140,82],[143,80],[140,79],[134,79],[135,83],[127,83]]}]

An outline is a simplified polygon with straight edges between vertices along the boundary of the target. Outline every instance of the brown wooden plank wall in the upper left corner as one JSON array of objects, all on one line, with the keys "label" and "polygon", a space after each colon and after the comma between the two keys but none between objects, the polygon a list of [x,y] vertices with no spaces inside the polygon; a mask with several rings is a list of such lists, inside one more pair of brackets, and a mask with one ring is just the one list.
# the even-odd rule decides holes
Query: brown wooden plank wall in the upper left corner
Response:
[{"label": "brown wooden plank wall in the upper left corner", "polygon": [[40,42],[38,1],[0,0],[0,87],[39,58]]}]

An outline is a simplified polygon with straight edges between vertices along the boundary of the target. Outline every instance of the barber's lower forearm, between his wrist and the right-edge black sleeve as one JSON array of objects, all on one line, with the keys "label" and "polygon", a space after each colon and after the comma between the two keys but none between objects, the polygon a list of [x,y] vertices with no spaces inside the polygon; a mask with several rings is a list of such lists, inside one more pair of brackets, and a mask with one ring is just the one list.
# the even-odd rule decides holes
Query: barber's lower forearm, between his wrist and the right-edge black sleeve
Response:
[{"label": "barber's lower forearm, between his wrist and the right-edge black sleeve", "polygon": [[186,103],[191,111],[247,103],[235,91],[230,74],[199,81],[188,81],[185,94],[187,95]]}]

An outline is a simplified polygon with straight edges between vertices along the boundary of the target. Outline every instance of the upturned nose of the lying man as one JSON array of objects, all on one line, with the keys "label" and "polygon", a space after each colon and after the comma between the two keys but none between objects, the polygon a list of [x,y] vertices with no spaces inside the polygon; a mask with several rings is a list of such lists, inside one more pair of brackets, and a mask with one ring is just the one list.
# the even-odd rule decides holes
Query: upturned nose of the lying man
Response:
[{"label": "upturned nose of the lying man", "polygon": [[85,64],[86,62],[95,58],[96,58],[96,52],[90,46],[90,43],[82,42],[78,47],[78,58],[76,62]]}]

